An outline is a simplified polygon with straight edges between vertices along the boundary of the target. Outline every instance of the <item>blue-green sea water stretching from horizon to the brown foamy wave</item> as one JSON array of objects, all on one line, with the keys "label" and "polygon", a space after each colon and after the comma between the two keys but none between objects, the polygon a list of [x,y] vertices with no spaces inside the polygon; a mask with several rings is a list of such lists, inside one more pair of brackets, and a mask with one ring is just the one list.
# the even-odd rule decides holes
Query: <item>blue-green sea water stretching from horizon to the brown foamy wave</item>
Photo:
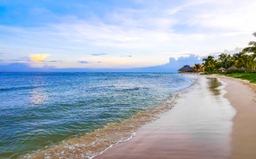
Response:
[{"label": "blue-green sea water stretching from horizon to the brown foamy wave", "polygon": [[0,158],[121,122],[193,81],[186,74],[0,73]]}]

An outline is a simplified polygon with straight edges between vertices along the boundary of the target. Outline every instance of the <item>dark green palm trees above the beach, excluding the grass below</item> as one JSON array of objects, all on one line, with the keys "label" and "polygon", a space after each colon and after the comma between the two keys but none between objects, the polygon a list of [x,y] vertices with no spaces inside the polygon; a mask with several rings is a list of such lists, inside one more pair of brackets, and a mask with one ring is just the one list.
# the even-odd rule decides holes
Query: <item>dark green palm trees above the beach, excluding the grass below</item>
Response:
[{"label": "dark green palm trees above the beach, excluding the grass below", "polygon": [[[256,38],[256,32],[253,33]],[[256,42],[249,42],[249,46],[236,54],[220,54],[218,59],[214,56],[203,58],[202,64],[195,64],[194,69],[201,69],[207,74],[226,70],[226,72],[255,72],[256,68]]]}]

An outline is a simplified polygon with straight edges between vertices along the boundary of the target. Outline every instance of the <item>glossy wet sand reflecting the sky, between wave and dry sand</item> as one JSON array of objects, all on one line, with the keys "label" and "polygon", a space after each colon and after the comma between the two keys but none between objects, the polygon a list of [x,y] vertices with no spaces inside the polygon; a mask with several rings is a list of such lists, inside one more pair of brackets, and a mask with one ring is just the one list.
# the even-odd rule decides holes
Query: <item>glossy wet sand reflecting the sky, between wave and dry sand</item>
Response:
[{"label": "glossy wet sand reflecting the sky, between wave and dry sand", "polygon": [[[229,158],[234,153],[236,111],[224,98],[224,85],[216,78],[199,77],[198,84],[181,95],[172,110],[141,127],[131,140],[95,158]],[[226,90],[234,91],[229,86]]]}]

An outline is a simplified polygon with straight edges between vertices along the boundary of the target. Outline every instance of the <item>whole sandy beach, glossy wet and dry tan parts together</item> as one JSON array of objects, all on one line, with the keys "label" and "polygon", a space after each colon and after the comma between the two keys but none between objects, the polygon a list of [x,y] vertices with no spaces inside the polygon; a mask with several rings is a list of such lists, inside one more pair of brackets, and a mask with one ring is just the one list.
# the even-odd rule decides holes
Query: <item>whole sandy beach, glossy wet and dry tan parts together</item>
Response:
[{"label": "whole sandy beach, glossy wet and dry tan parts together", "polygon": [[253,87],[237,79],[199,76],[172,110],[95,158],[256,158]]}]

